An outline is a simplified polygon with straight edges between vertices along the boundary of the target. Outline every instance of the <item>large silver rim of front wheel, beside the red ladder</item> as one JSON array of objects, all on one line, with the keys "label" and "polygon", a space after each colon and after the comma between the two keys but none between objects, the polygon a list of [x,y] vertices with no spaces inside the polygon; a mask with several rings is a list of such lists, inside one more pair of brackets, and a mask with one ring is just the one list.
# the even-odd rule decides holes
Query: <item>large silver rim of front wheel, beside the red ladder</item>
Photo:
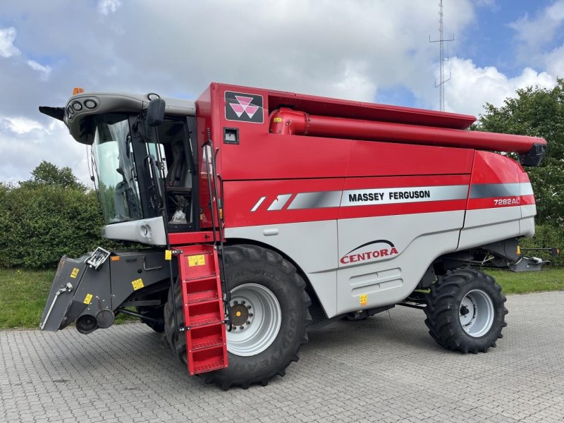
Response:
[{"label": "large silver rim of front wheel, beside the red ladder", "polygon": [[233,329],[227,333],[227,350],[248,357],[269,348],[282,322],[276,295],[257,283],[245,283],[231,290],[230,305]]}]

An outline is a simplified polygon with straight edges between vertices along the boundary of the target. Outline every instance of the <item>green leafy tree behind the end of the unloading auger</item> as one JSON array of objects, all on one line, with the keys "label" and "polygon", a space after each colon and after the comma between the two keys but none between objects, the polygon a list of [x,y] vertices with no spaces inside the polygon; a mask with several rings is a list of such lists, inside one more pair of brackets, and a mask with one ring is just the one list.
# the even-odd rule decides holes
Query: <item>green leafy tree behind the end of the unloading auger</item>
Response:
[{"label": "green leafy tree behind the end of the unloading auger", "polygon": [[537,200],[537,222],[552,225],[564,220],[564,79],[546,90],[527,87],[503,106],[486,103],[476,130],[544,137],[546,155],[527,173]]}]

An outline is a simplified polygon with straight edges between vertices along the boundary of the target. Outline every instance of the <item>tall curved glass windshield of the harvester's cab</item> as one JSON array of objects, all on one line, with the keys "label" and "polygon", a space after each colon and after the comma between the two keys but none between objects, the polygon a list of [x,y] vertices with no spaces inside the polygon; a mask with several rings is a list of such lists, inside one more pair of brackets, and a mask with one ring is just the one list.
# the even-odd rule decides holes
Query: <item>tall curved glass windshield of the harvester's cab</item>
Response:
[{"label": "tall curved glass windshield of the harvester's cab", "polygon": [[92,155],[106,224],[142,219],[128,116],[94,118]]}]

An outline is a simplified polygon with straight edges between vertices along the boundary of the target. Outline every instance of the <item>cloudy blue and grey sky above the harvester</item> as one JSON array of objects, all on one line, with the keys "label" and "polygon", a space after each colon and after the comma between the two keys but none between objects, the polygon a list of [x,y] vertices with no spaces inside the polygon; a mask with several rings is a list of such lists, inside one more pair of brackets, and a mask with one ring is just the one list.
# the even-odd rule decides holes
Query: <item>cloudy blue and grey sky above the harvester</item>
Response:
[{"label": "cloudy blue and grey sky above the harvester", "polygon": [[[37,106],[73,87],[193,99],[209,82],[439,108],[438,0],[26,0],[0,13],[0,180],[86,147]],[[564,0],[444,0],[446,109],[564,77]]]}]

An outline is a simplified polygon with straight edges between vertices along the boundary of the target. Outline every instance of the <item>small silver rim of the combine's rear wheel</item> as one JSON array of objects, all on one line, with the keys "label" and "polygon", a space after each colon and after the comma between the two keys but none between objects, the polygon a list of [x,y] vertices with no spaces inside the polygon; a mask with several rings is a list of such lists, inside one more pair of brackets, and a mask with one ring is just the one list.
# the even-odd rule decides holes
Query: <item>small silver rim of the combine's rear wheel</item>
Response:
[{"label": "small silver rim of the combine's rear wheel", "polygon": [[479,338],[494,324],[494,302],[483,290],[471,290],[462,298],[458,316],[462,329],[468,335]]}]

